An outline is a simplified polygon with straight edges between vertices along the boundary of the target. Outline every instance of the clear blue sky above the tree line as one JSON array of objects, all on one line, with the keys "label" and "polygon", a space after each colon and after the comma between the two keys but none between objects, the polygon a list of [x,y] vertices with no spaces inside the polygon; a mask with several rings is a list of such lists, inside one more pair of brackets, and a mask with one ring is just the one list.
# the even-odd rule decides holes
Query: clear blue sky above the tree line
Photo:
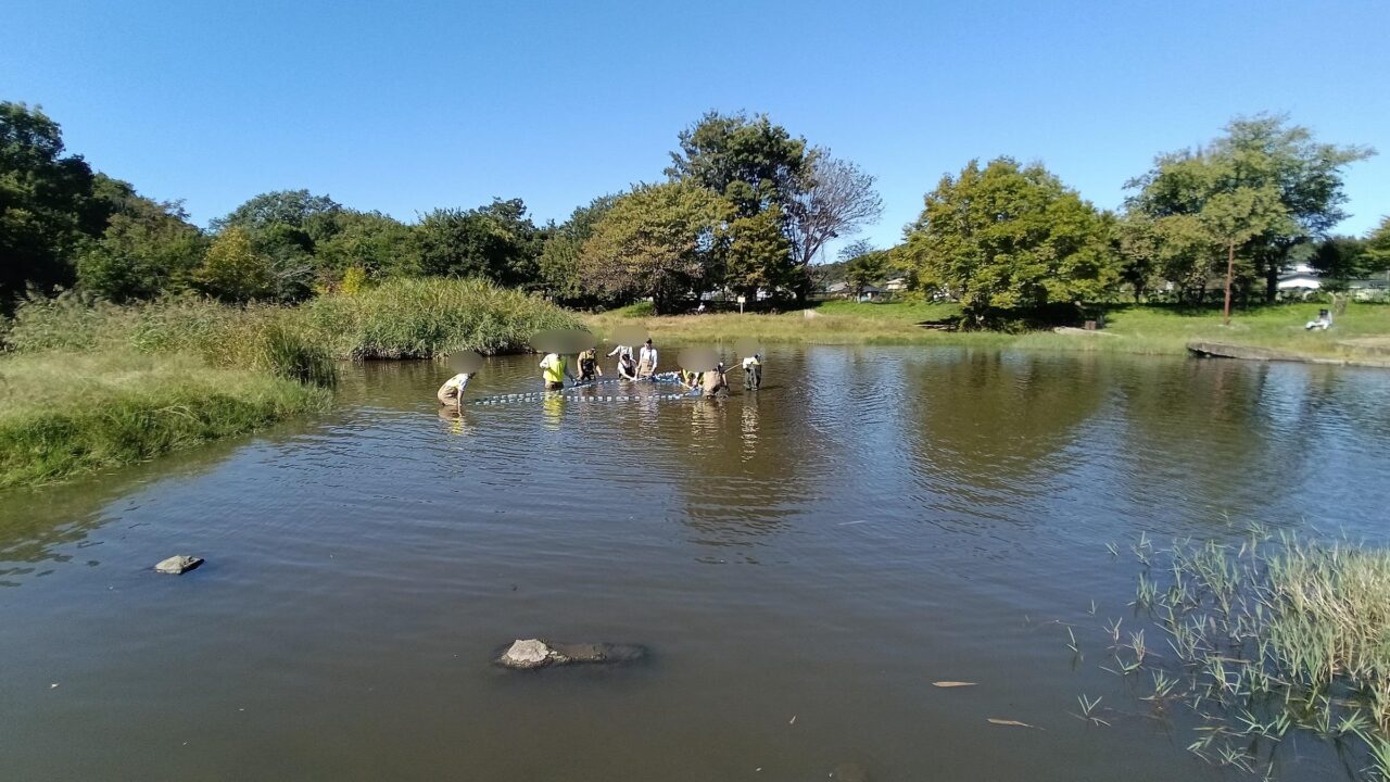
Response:
[{"label": "clear blue sky above the tree line", "polygon": [[403,220],[525,199],[538,221],[662,178],[709,109],[766,111],[878,177],[894,244],[942,173],[1041,160],[1098,206],[1158,152],[1286,111],[1376,146],[1390,213],[1390,3],[275,3],[7,0],[0,97],[199,223],[309,188]]}]

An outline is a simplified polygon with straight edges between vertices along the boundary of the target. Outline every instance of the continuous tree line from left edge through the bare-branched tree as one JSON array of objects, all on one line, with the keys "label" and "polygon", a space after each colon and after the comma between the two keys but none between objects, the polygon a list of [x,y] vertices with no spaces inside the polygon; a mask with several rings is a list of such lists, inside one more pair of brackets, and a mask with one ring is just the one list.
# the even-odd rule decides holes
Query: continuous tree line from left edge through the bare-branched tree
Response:
[{"label": "continuous tree line from left edge through the bare-branched tree", "polygon": [[78,154],[42,110],[0,103],[0,299],[79,288],[124,303],[196,292],[293,302],[391,277],[480,277],[564,303],[692,292],[810,292],[838,232],[877,217],[873,177],[766,117],[710,113],[680,134],[667,179],[538,225],[521,199],[435,209],[413,224],[325,195],[261,193],[207,230]]}]

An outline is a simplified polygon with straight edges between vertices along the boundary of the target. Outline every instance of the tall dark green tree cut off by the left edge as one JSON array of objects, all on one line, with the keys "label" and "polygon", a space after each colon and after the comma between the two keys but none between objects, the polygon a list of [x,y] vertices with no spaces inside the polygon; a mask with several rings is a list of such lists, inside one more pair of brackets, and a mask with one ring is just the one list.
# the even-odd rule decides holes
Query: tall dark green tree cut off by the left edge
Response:
[{"label": "tall dark green tree cut off by the left edge", "polygon": [[0,102],[0,312],[25,287],[74,281],[72,257],[106,230],[110,205],[93,196],[81,156],[40,109]]}]

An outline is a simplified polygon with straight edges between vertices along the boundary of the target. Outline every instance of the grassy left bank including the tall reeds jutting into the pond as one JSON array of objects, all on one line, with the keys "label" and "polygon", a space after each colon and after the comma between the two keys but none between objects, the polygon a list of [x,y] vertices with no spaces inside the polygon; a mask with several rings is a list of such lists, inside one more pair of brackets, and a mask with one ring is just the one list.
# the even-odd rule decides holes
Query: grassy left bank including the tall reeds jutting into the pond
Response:
[{"label": "grassy left bank including the tall reeds jutting into the pond", "polygon": [[0,488],[149,459],[322,409],[336,362],[525,349],[575,317],[468,280],[402,280],[299,306],[75,296],[3,333]]}]

